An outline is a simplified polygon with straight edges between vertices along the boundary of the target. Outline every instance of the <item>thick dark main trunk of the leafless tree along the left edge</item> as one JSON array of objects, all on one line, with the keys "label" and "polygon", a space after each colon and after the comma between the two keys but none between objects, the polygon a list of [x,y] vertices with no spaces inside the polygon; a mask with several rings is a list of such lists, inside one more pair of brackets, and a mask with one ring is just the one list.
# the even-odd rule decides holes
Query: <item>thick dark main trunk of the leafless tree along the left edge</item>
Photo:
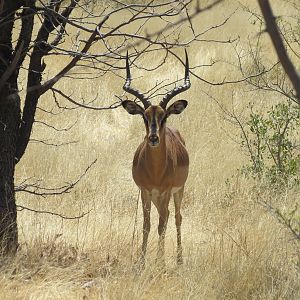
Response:
[{"label": "thick dark main trunk of the leafless tree along the left edge", "polygon": [[[15,72],[7,73],[14,53],[12,30],[21,1],[2,2],[0,13],[0,254],[14,253],[18,247],[17,209],[14,189],[15,153],[20,124],[20,99],[11,97],[17,89]],[[9,76],[8,76],[9,75]]]}]

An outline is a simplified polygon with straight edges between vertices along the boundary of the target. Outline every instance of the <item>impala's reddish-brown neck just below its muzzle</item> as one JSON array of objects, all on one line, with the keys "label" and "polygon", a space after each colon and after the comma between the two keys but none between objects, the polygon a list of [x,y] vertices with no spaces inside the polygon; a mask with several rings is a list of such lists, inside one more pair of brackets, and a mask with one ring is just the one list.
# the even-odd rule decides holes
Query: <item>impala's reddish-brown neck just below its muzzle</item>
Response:
[{"label": "impala's reddish-brown neck just below its muzzle", "polygon": [[160,143],[156,147],[146,144],[147,169],[155,178],[159,178],[167,166],[166,128],[160,132]]}]

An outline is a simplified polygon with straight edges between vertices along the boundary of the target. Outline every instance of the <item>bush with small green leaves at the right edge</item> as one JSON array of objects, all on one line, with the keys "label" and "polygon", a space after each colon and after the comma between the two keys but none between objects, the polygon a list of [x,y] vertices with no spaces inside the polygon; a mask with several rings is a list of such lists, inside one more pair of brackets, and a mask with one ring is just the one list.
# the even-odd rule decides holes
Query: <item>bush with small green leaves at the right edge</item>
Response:
[{"label": "bush with small green leaves at the right edge", "polygon": [[291,102],[273,106],[266,116],[254,111],[242,126],[242,147],[251,163],[243,167],[247,176],[273,188],[300,183],[299,106]]}]

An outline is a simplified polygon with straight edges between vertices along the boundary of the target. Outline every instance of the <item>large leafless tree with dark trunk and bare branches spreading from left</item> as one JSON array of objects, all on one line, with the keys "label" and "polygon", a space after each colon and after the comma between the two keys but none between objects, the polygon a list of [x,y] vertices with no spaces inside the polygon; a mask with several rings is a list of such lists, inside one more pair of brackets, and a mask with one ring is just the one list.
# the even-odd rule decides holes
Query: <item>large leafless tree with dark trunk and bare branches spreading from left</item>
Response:
[{"label": "large leafless tree with dark trunk and bare branches spreading from left", "polygon": [[[68,192],[76,183],[49,189],[40,182],[23,182],[15,186],[15,166],[22,159],[30,141],[59,146],[47,140],[31,137],[40,97],[48,93],[57,109],[68,111],[77,107],[93,110],[113,109],[120,106],[120,97],[108,107],[98,99],[78,99],[57,87],[62,80],[79,80],[114,74],[125,68],[126,51],[131,63],[143,53],[161,51],[164,58],[154,69],[164,63],[177,47],[205,40],[205,34],[223,26],[219,25],[197,32],[193,20],[203,11],[212,9],[222,0],[200,6],[200,1],[101,1],[101,9],[93,9],[92,0],[0,0],[0,248],[2,253],[15,252],[18,246],[16,192],[40,196]],[[106,3],[106,5],[105,5]],[[128,4],[129,3],[129,4]],[[99,7],[98,7],[99,8]],[[114,19],[114,22],[111,22]],[[119,20],[119,22],[115,22]],[[148,23],[159,21],[157,31],[147,31]],[[128,25],[133,25],[129,27]],[[184,28],[183,28],[184,27]],[[133,29],[129,29],[133,28]],[[181,37],[181,29],[189,37]],[[71,49],[66,40],[72,41]],[[218,41],[214,41],[218,42]],[[221,41],[228,42],[228,41]],[[229,41],[230,42],[230,41]],[[95,46],[95,47],[94,47]],[[97,49],[97,50],[96,50]],[[101,49],[101,50],[99,50]],[[65,65],[51,74],[47,65],[50,56],[65,57]],[[123,60],[124,58],[124,60]],[[182,61],[183,63],[183,61]],[[142,66],[140,66],[142,67]],[[80,69],[79,69],[80,68]],[[72,73],[70,71],[72,70]],[[77,73],[74,70],[80,70]],[[194,68],[191,67],[193,72]],[[53,70],[52,70],[53,73]],[[125,73],[125,72],[124,72]],[[21,75],[26,87],[21,86]],[[123,74],[123,72],[122,72]],[[48,75],[49,76],[49,75]],[[158,92],[158,85],[148,91]],[[23,96],[24,95],[24,98]],[[22,97],[22,99],[21,99]],[[70,106],[61,104],[60,99]],[[45,114],[50,108],[40,107]],[[55,124],[38,121],[53,130]],[[87,170],[86,170],[87,171]],[[86,173],[84,172],[84,174]],[[80,177],[81,178],[81,177]],[[23,206],[19,210],[25,209]]]}]

